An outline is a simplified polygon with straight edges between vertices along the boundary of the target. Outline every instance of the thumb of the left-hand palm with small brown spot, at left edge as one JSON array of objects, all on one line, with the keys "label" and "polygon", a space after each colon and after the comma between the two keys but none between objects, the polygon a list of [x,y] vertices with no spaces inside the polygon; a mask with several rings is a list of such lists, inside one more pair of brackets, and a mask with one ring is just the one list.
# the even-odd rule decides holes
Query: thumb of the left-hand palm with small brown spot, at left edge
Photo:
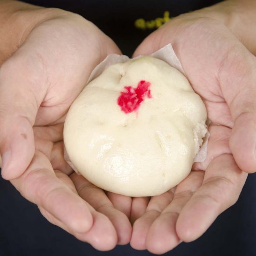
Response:
[{"label": "thumb of the left-hand palm with small brown spot, at left edge", "polygon": [[1,175],[7,180],[19,177],[34,156],[32,127],[47,88],[33,62],[21,47],[0,67]]}]

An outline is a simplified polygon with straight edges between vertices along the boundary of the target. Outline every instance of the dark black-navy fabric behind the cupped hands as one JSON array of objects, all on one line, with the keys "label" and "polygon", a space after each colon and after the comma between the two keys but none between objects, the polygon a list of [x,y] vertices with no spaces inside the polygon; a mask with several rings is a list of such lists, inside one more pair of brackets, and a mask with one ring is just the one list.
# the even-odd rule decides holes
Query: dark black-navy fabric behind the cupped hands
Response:
[{"label": "dark black-navy fabric behind the cupped hands", "polygon": [[[212,5],[217,0],[31,0],[83,15],[131,55],[153,30],[135,29],[138,18],[154,20],[164,11],[170,16]],[[192,243],[182,243],[168,256],[256,256],[256,174],[249,175],[238,202],[222,213],[207,232]],[[0,178],[0,256],[151,256],[129,245],[99,252],[40,215],[10,182]]]}]

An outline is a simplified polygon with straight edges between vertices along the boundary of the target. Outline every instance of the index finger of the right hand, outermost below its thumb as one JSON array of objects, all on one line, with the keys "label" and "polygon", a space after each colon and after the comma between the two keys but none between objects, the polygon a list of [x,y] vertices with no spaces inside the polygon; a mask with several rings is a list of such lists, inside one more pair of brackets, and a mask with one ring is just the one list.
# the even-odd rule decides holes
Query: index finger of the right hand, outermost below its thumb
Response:
[{"label": "index finger of the right hand, outermost below its thumb", "polygon": [[219,214],[237,201],[246,177],[232,155],[216,157],[206,170],[202,186],[180,213],[176,224],[180,239],[190,242],[201,236]]}]

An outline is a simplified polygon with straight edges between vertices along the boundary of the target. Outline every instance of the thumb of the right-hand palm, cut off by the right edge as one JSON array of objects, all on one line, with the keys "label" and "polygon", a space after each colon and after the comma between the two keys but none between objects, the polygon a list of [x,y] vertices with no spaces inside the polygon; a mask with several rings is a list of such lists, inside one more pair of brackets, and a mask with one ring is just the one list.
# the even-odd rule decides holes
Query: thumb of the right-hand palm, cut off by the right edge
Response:
[{"label": "thumb of the right-hand palm, cut off by the right edge", "polygon": [[256,171],[256,58],[239,45],[222,60],[220,86],[227,101],[234,127],[230,148],[238,166]]}]

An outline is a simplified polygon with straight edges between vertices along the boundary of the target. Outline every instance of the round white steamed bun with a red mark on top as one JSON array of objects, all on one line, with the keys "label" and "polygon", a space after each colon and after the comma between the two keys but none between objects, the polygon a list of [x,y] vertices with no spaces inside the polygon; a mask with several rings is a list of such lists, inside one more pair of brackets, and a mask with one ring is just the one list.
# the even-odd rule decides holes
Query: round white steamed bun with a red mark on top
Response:
[{"label": "round white steamed bun with a red mark on top", "polygon": [[183,74],[140,57],[88,83],[68,111],[64,143],[76,170],[94,185],[128,196],[160,195],[189,174],[206,119]]}]

